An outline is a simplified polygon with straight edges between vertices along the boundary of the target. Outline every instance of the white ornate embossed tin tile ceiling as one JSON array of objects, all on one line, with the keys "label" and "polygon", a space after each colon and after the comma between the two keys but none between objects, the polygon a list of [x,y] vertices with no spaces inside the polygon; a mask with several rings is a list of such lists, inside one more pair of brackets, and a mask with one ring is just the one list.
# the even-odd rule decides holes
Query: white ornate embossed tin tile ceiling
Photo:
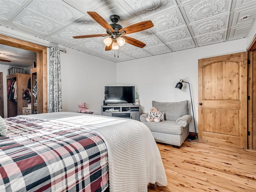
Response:
[{"label": "white ornate embossed tin tile ceiling", "polygon": [[[128,34],[146,44],[105,51],[105,37],[74,39],[106,30],[86,12],[123,27],[152,20],[154,27]],[[256,0],[0,0],[0,24],[17,32],[113,62],[246,38],[256,18]]]}]

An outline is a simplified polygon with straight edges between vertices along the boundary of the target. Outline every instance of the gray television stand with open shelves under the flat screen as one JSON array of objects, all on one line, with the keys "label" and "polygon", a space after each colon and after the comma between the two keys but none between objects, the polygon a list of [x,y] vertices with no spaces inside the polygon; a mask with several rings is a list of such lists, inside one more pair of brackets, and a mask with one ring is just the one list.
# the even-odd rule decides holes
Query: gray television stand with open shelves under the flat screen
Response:
[{"label": "gray television stand with open shelves under the flat screen", "polygon": [[140,105],[134,104],[108,104],[101,106],[101,114],[110,117],[140,120]]}]

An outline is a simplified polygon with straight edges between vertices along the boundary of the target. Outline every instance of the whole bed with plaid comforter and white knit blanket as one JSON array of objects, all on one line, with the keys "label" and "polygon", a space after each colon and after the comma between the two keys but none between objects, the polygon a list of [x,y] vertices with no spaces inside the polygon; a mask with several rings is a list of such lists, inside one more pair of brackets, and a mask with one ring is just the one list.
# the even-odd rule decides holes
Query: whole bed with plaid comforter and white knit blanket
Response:
[{"label": "whole bed with plaid comforter and white knit blanket", "polygon": [[5,118],[0,191],[146,192],[166,186],[150,130],[136,120],[55,112]]}]

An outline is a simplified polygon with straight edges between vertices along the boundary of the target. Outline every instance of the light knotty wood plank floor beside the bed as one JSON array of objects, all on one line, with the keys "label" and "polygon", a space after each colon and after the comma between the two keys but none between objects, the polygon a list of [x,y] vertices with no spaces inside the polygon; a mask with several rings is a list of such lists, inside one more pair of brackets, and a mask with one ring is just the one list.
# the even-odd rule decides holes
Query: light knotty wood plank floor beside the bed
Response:
[{"label": "light knotty wood plank floor beside the bed", "polygon": [[168,186],[148,192],[256,192],[256,151],[186,140],[157,144]]}]

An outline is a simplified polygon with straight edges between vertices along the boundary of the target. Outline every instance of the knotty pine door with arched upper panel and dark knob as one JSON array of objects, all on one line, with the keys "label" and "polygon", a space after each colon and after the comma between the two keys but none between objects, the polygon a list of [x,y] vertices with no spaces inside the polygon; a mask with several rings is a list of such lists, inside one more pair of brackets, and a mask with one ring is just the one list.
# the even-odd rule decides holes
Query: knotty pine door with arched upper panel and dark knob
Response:
[{"label": "knotty pine door with arched upper panel and dark knob", "polygon": [[247,52],[198,60],[199,140],[247,148]]}]

